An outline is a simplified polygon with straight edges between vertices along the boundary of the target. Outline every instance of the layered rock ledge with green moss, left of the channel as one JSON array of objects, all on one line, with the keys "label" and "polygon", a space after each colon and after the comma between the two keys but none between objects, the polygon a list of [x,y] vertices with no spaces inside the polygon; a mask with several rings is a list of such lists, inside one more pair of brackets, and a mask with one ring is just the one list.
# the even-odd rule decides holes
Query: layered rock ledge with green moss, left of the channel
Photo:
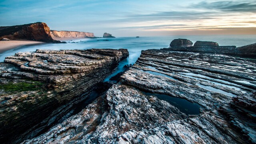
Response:
[{"label": "layered rock ledge with green moss, left of the channel", "polygon": [[33,138],[85,100],[127,49],[36,50],[0,63],[0,141]]}]

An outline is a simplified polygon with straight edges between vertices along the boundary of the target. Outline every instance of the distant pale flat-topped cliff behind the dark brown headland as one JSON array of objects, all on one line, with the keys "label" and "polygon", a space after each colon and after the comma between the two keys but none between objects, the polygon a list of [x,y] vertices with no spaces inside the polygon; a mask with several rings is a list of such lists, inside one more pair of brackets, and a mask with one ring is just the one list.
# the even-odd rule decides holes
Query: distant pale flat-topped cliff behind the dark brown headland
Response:
[{"label": "distant pale flat-topped cliff behind the dark brown headland", "polygon": [[57,31],[50,30],[52,38],[95,38],[90,32],[76,32],[76,31]]}]

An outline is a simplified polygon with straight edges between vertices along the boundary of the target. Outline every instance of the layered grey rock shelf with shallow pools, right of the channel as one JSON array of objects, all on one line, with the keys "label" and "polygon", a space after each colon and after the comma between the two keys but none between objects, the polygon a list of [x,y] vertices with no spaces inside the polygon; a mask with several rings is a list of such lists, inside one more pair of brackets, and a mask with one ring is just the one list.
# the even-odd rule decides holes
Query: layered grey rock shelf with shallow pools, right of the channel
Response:
[{"label": "layered grey rock shelf with shallow pools, right of the channel", "polygon": [[[106,94],[23,144],[256,143],[256,58],[221,49],[142,50]],[[197,103],[200,114],[186,115],[150,93]]]}]

